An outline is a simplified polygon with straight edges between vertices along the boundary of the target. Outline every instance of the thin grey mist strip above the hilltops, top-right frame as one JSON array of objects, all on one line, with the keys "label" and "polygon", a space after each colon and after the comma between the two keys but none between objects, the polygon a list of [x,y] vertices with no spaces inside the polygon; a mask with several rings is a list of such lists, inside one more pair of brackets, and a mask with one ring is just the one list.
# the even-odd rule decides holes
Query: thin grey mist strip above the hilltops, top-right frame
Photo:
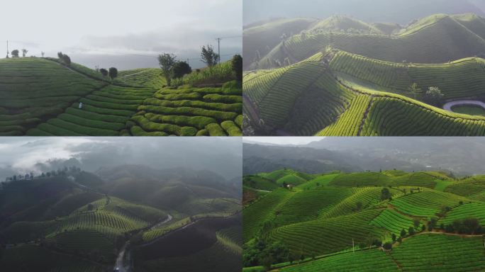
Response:
[{"label": "thin grey mist strip above the hilltops, top-right frame", "polygon": [[477,13],[485,16],[481,0],[245,0],[243,23],[269,18],[326,18],[342,14],[367,23],[407,24],[434,13]]}]

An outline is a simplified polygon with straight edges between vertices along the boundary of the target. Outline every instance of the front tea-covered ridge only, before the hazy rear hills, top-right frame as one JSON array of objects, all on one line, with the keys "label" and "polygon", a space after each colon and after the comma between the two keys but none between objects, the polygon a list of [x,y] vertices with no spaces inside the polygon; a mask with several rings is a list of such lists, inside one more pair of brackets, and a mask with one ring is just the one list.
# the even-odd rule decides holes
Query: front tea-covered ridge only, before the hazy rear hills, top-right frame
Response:
[{"label": "front tea-covered ridge only, before the hazy rear hills, top-right frame", "polygon": [[484,62],[399,64],[326,50],[287,67],[245,73],[244,111],[260,135],[484,135],[484,117],[445,111],[408,91],[416,83],[423,90],[438,86],[443,101],[481,99]]}]

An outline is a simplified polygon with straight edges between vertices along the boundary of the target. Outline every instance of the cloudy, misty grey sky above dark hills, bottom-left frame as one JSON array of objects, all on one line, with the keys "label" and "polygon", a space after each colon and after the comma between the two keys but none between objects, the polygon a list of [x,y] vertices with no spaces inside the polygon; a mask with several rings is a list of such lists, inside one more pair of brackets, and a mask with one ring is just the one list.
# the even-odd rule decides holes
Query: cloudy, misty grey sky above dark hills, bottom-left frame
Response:
[{"label": "cloudy, misty grey sky above dark hills, bottom-left frame", "polygon": [[240,137],[0,137],[0,181],[28,171],[78,166],[86,171],[125,164],[242,175]]}]

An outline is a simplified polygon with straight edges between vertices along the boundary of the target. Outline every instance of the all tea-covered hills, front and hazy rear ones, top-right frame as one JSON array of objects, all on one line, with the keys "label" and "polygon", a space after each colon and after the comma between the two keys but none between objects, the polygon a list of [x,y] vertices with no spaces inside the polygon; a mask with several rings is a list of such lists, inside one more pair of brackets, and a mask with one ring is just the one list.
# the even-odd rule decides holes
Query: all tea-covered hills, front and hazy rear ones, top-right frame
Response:
[{"label": "all tea-covered hills, front and hazy rear ones, top-right frame", "polygon": [[[483,22],[436,15],[388,35],[334,16],[252,64],[243,77],[244,113],[257,135],[483,136],[481,108],[441,108],[485,96],[485,40],[473,32]],[[430,87],[442,97],[429,98]]]}]

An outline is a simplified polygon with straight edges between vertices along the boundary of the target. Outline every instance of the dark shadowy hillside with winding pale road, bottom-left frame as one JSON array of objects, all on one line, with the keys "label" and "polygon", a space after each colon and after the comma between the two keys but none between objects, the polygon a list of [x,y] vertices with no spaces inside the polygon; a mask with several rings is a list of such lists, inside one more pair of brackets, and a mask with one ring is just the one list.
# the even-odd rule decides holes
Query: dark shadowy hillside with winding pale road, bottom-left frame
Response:
[{"label": "dark shadowy hillside with winding pale road, bottom-left frame", "polygon": [[[104,177],[69,169],[2,183],[0,266],[9,271],[106,271],[113,266],[160,271],[198,262],[211,252],[233,261],[240,254],[240,198],[229,185],[211,188],[225,183],[223,178],[204,172],[177,174],[176,169],[166,177],[143,167],[124,169],[129,172],[118,176],[116,168],[103,169]],[[187,180],[190,175],[196,179]],[[203,242],[193,244],[179,232],[203,234]],[[183,249],[176,256],[159,251],[174,240]],[[136,254],[142,250],[143,255]],[[218,265],[225,271],[235,266],[208,261],[201,271]]]}]

